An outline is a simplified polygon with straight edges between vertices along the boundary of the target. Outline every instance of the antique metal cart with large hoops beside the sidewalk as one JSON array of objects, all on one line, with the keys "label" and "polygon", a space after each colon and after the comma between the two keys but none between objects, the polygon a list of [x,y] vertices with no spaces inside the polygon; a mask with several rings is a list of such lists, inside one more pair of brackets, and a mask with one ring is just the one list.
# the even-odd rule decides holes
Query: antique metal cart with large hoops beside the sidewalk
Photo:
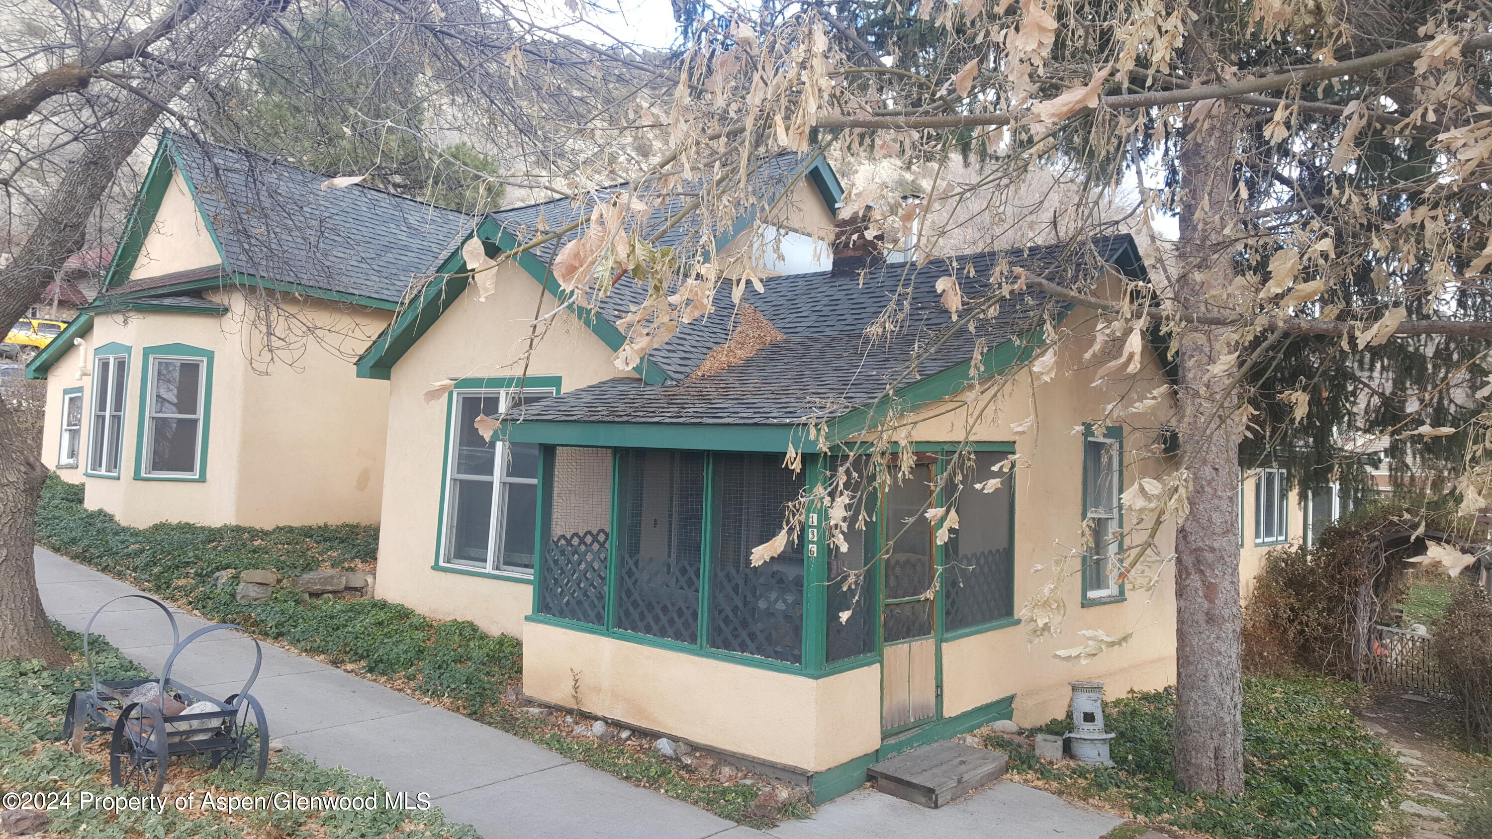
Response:
[{"label": "antique metal cart with large hoops beside the sidewalk", "polygon": [[[166,657],[158,679],[100,682],[88,648],[93,624],[110,605],[130,597],[146,600],[166,614],[172,627],[170,655]],[[227,699],[213,699],[172,681],[172,666],[191,642],[228,629],[243,627],[213,624],[184,639],[166,603],[145,594],[125,594],[100,606],[84,629],[84,657],[88,661],[93,687],[73,694],[63,721],[63,734],[73,751],[82,751],[85,730],[112,732],[109,775],[113,785],[133,787],[157,796],[166,787],[166,773],[173,758],[206,755],[213,769],[227,763],[231,767],[252,770],[255,781],[264,778],[270,758],[269,726],[264,721],[264,709],[249,694],[264,663],[260,642],[249,639],[254,640],[254,670],[249,672],[243,688]],[[145,685],[155,687],[152,690]]]}]

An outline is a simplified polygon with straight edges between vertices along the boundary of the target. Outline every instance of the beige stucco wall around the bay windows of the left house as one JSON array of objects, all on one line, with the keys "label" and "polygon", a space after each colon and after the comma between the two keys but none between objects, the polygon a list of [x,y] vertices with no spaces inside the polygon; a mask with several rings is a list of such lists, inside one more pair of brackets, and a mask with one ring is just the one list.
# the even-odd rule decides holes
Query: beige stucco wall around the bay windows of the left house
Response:
[{"label": "beige stucco wall around the bay windows of the left house", "polygon": [[[85,406],[93,396],[91,375],[81,382],[76,378],[79,358],[87,358],[91,373],[93,349],[118,342],[130,346],[119,478],[84,476],[81,467],[60,470],[87,484],[90,508],[106,509],[136,527],[157,521],[252,527],[376,523],[388,384],[358,379],[348,358],[318,343],[306,345],[292,361],[269,363],[264,357],[251,361],[248,345],[257,327],[242,319],[242,296],[237,291],[212,296],[230,306],[228,315],[133,312],[95,316],[87,348],[72,348],[48,372],[45,463],[57,463],[63,390],[82,384]],[[351,319],[361,322],[363,333],[376,333],[388,319],[383,312],[321,300],[285,299],[279,306],[300,322],[322,324],[328,330],[346,330]],[[166,343],[213,352],[206,481],[134,478],[142,351]],[[87,446],[85,417],[84,452]],[[82,464],[87,464],[87,454]]]}]

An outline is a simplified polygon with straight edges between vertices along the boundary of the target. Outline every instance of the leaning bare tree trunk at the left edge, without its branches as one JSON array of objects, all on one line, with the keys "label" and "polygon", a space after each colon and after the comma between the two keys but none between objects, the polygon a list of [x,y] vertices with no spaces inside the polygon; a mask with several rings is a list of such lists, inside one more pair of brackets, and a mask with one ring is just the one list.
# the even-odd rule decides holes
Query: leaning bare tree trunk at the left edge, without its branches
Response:
[{"label": "leaning bare tree trunk at the left edge, without its branches", "polygon": [[[119,91],[113,106],[103,107],[106,116],[97,134],[84,143],[78,160],[42,202],[39,221],[15,260],[0,270],[0,324],[21,318],[67,257],[82,249],[88,218],[161,115],[152,103],[176,99],[194,73],[218,58],[263,13],[261,0],[227,0],[204,9],[189,25],[173,33],[169,45],[157,45],[172,69],[140,82],[145,96]],[[66,660],[66,654],[48,627],[31,558],[36,503],[46,478],[46,467],[37,457],[45,384],[39,390],[40,396],[0,399],[0,658],[57,663]],[[34,393],[33,388],[25,391]]]}]

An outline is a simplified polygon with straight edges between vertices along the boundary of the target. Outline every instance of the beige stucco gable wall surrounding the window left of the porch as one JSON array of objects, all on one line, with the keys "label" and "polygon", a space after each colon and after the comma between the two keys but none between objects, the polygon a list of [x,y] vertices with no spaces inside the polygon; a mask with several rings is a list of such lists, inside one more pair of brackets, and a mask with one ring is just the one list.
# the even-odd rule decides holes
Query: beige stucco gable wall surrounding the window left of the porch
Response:
[{"label": "beige stucco gable wall surrounding the window left of the porch", "polygon": [[[436,570],[440,478],[449,397],[425,403],[433,382],[525,375],[518,358],[528,348],[536,312],[558,302],[513,263],[498,269],[495,293],[479,302],[467,290],[451,305],[389,376],[388,452],[379,536],[379,597],[433,618],[474,621],[491,633],[519,636],[531,611],[533,585]],[[560,376],[571,391],[615,376],[612,349],[568,311],[549,322],[528,358],[528,376]]]}]

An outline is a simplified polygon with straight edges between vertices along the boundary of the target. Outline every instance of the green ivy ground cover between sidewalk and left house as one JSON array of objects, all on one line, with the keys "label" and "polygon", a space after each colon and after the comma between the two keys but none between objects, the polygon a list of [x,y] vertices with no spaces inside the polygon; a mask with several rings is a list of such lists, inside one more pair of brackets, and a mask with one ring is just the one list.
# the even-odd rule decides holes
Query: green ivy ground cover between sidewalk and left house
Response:
[{"label": "green ivy ground cover between sidewalk and left house", "polygon": [[206,527],[161,523],[127,527],[82,506],[82,487],[55,475],[37,506],[37,540],[48,548],[215,621],[240,624],[336,663],[357,663],[373,676],[407,679],[421,694],[476,711],[518,679],[518,639],[492,637],[470,621],[437,623],[386,600],[316,599],[278,590],[264,603],[239,603],[234,587],[218,588],[219,570],[275,569],[295,576],[319,567],[369,567],[377,557],[377,527]]}]

